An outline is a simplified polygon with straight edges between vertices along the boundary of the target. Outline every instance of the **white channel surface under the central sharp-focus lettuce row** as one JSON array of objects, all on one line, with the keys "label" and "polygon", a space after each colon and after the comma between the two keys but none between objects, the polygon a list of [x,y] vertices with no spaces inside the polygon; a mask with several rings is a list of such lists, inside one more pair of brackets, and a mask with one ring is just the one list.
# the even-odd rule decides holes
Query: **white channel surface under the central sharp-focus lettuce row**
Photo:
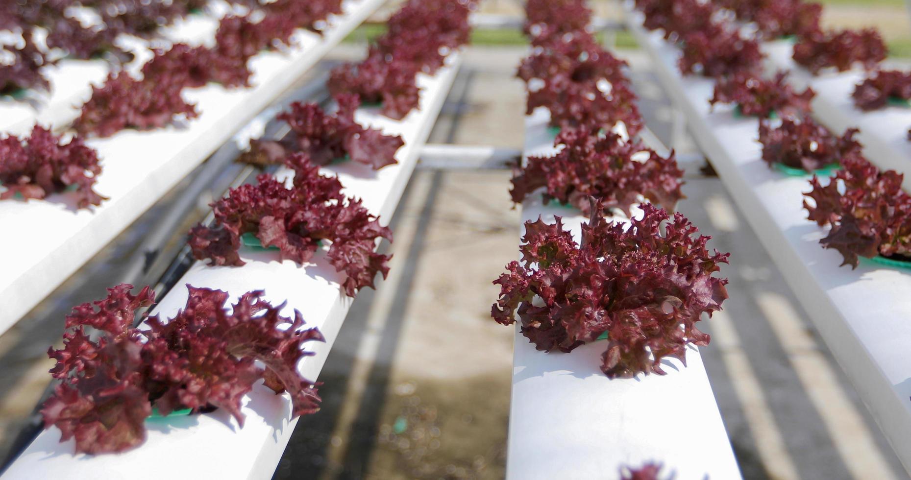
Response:
[{"label": "white channel surface under the central sharp-focus lettuce row", "polygon": [[[543,108],[527,118],[527,156],[556,151],[547,124]],[[538,215],[563,217],[577,241],[588,221],[535,194],[522,218]],[[650,461],[680,480],[741,477],[698,348],[688,349],[687,366],[664,360],[667,375],[611,380],[599,368],[604,341],[538,352],[517,326],[514,345],[507,478],[619,478],[621,465]]]}]

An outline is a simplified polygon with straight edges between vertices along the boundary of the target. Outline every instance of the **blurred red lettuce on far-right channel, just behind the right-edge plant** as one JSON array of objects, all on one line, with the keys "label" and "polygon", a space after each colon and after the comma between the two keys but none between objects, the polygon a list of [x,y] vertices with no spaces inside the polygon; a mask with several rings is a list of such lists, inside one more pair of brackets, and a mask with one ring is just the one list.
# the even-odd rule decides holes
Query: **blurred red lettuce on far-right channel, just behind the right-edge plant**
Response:
[{"label": "blurred red lettuce on far-right channel, just behind the right-edge plant", "polygon": [[879,32],[865,28],[804,36],[794,45],[793,59],[816,75],[828,66],[844,72],[858,62],[870,69],[885,60],[886,52]]}]

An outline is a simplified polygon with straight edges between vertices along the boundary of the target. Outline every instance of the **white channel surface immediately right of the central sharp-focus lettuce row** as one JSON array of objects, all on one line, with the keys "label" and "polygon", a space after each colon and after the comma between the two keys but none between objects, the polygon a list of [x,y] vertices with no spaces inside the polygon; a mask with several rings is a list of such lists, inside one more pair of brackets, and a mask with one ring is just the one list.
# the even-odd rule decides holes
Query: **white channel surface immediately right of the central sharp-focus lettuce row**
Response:
[{"label": "white channel surface immediately right of the central sharp-focus lettuce row", "polygon": [[841,255],[822,248],[819,240],[826,232],[807,220],[803,209],[803,192],[810,190],[808,178],[769,169],[761,158],[758,120],[735,118],[730,106],[710,113],[712,81],[681,77],[676,48],[660,34],[645,32],[639,14],[628,18],[703,152],[908,469],[911,271],[866,260],[856,270],[839,267]]}]

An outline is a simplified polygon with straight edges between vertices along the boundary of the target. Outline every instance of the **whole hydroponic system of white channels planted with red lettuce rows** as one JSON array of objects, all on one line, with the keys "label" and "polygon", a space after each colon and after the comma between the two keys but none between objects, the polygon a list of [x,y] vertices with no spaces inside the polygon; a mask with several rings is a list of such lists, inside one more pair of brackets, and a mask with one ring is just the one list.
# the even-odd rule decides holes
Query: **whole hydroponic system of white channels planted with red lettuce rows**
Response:
[{"label": "whole hydroponic system of white channels planted with red lettuce rows", "polygon": [[[271,477],[298,417],[318,414],[353,298],[389,271],[377,247],[477,6],[408,0],[363,60],[333,69],[332,102],[281,103],[383,4],[0,5],[0,249],[15,252],[0,333],[220,147],[259,173],[187,232],[172,288],[111,285],[74,307],[48,352],[45,430],[3,478],[158,478],[163,460],[187,478]],[[911,465],[911,74],[878,67],[874,30],[825,30],[802,0],[622,6]],[[522,235],[491,279],[492,320],[515,329],[507,475],[739,478],[700,355],[729,254],[675,212],[683,170],[650,141],[629,66],[586,3],[525,8],[526,139],[509,190]]]}]

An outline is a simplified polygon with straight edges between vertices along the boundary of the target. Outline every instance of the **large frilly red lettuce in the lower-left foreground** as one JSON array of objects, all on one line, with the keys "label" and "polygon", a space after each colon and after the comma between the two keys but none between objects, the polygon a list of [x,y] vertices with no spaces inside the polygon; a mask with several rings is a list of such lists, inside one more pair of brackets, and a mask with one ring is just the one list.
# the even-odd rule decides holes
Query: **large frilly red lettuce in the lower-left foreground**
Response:
[{"label": "large frilly red lettuce in the lower-left foreground", "polygon": [[[61,441],[76,439],[77,453],[122,452],[146,439],[145,419],[191,408],[223,408],[243,425],[241,399],[264,379],[275,393],[291,394],[294,416],[319,410],[315,385],[297,372],[312,352],[307,342],[322,341],[319,330],[304,330],[299,311],[282,317],[262,291],[243,294],[225,308],[224,291],[188,285],[187,306],[165,322],[148,318],[148,330],[134,328],[140,308],[155,298],[148,287],[107,290],[107,299],[84,303],[67,316],[64,346],[51,347],[51,369],[62,382],[44,403],[45,428],[56,425]],[[280,327],[287,327],[281,328]],[[97,340],[87,328],[100,332]]]}]

